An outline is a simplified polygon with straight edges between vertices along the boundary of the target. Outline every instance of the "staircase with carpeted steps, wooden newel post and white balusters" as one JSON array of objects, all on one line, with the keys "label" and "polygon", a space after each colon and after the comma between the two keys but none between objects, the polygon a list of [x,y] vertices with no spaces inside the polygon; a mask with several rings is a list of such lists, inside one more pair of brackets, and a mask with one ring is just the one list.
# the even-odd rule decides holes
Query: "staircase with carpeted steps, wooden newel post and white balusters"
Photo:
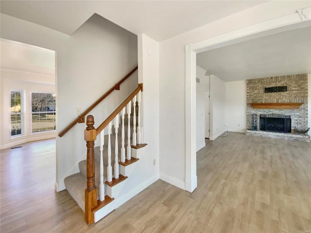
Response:
[{"label": "staircase with carpeted steps, wooden newel post and white balusters", "polygon": [[[88,225],[92,224],[94,221],[98,221],[100,218],[104,217],[105,215],[107,215],[108,213],[110,213],[112,211],[111,209],[111,205],[108,205],[109,203],[111,203],[114,198],[113,196],[117,195],[118,189],[116,188],[115,190],[112,189],[113,186],[117,185],[118,183],[123,182],[125,179],[127,179],[128,177],[125,175],[127,174],[125,167],[127,167],[128,165],[137,162],[137,159],[131,159],[131,148],[133,147],[134,149],[139,149],[141,147],[144,147],[147,144],[143,144],[143,145],[137,145],[137,146],[131,146],[131,101],[133,100],[134,102],[136,102],[135,100],[138,98],[138,93],[140,91],[142,91],[143,89],[143,85],[142,83],[138,84],[138,87],[136,88],[136,90],[129,96],[126,98],[126,100],[124,100],[121,105],[119,107],[117,107],[115,109],[115,111],[108,116],[99,126],[97,129],[94,128],[94,117],[89,115],[86,118],[86,130],[84,131],[84,139],[86,141],[86,161],[81,161],[81,166],[84,167],[86,166],[86,174],[84,173],[85,170],[80,170],[80,173],[77,174],[73,174],[70,175],[69,177],[66,177],[64,180],[64,183],[66,185],[66,187],[68,189],[70,189],[73,192],[75,192],[77,190],[77,186],[73,185],[72,183],[74,183],[76,181],[76,179],[84,179],[81,177],[81,175],[85,175],[86,176],[86,189],[85,189],[85,203],[83,203],[85,205],[85,208],[83,208],[83,204],[81,203],[81,199],[80,199],[80,195],[78,196],[78,199],[76,199],[75,197],[77,197],[76,195],[73,195],[73,198],[75,198],[75,200],[77,201],[77,203],[79,204],[79,206],[82,207],[82,209],[85,209],[85,217],[86,217],[86,223]],[[134,98],[136,96],[136,99]],[[140,98],[139,98],[140,99]],[[134,105],[134,109],[136,111],[136,103],[133,104]],[[127,115],[128,115],[128,144],[127,147],[125,149],[125,129],[124,129],[124,117],[125,117],[125,112],[126,112],[126,106],[127,106]],[[138,106],[138,109],[140,111],[140,108]],[[122,121],[122,134],[121,134],[121,160],[123,160],[123,162],[119,162],[118,163],[118,130],[119,130],[119,120],[120,120],[120,113],[121,113],[121,121]],[[136,114],[135,114],[136,116]],[[116,118],[116,119],[115,119]],[[137,117],[136,117],[137,118]],[[139,127],[140,127],[140,113],[139,113]],[[115,144],[115,160],[116,163],[114,163],[114,166],[116,166],[116,164],[118,164],[118,166],[116,167],[116,174],[115,174],[115,179],[112,178],[113,174],[112,174],[112,164],[111,164],[111,134],[112,134],[112,120],[114,120],[115,123],[115,132],[116,132],[116,144]],[[133,121],[136,121],[136,119]],[[136,126],[136,123],[134,123],[134,125]],[[107,145],[107,150],[108,150],[108,154],[107,154],[107,159],[108,162],[107,164],[104,165],[104,128],[108,126],[108,145]],[[140,129],[142,129],[142,127],[140,127]],[[134,130],[132,133],[135,133]],[[136,130],[136,134],[138,133],[138,130]],[[99,190],[100,190],[100,194],[99,194],[99,199],[97,200],[97,189],[95,186],[95,152],[94,152],[94,141],[96,140],[97,135],[100,134],[100,145],[99,145],[99,150],[100,150],[100,161],[98,161],[100,163],[100,168],[99,168],[99,172],[100,173],[100,184],[99,184]],[[138,136],[138,135],[137,135]],[[134,138],[135,138],[135,134],[134,134]],[[141,136],[142,138],[142,136]],[[138,139],[138,138],[137,138]],[[137,143],[137,141],[136,141]],[[138,143],[137,143],[138,144]],[[127,150],[127,157],[125,159],[125,153]],[[135,155],[134,155],[135,156]],[[86,162],[86,165],[85,165]],[[123,163],[123,164],[122,164]],[[107,181],[105,182],[105,184],[107,185],[103,185],[103,174],[104,174],[104,169],[107,166]],[[124,167],[123,171],[121,169],[121,167]],[[80,167],[80,163],[79,163],[79,168]],[[121,174],[119,175],[119,179],[118,179],[118,168],[121,169]],[[124,175],[123,175],[123,173]],[[81,174],[82,173],[82,174]],[[69,184],[67,186],[66,182]],[[80,183],[78,182],[77,185],[80,185]],[[81,187],[81,186],[80,186]],[[107,187],[107,195],[108,196],[104,196],[104,189],[105,187]],[[116,191],[117,190],[117,191]],[[70,193],[70,192],[69,192]],[[102,211],[103,208],[106,208]]]}]

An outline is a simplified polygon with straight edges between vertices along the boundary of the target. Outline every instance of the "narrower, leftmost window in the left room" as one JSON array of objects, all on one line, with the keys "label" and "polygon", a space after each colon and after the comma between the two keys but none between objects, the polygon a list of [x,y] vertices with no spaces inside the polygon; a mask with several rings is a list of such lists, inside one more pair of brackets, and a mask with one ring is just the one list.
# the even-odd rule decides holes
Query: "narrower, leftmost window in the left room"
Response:
[{"label": "narrower, leftmost window in the left room", "polygon": [[11,91],[11,137],[22,133],[21,91]]}]

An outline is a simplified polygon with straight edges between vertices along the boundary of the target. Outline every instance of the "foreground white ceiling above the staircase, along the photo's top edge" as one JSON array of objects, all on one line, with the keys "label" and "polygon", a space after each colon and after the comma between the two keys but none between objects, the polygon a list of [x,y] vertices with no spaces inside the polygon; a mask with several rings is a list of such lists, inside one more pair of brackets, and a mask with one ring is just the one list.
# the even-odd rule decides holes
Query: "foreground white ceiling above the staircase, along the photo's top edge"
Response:
[{"label": "foreground white ceiling above the staircase, along the photo's top edge", "polygon": [[[266,0],[1,0],[3,14],[71,34],[94,13],[163,41]],[[66,22],[66,23],[64,23]]]}]

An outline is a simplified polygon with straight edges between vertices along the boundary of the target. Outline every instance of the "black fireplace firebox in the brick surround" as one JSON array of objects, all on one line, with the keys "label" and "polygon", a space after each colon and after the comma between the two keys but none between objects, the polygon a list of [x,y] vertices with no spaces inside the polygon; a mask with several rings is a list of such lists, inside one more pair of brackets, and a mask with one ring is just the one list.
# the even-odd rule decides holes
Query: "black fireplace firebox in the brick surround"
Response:
[{"label": "black fireplace firebox in the brick surround", "polygon": [[260,114],[260,130],[278,132],[278,133],[291,133],[292,121],[291,116],[269,114]]}]

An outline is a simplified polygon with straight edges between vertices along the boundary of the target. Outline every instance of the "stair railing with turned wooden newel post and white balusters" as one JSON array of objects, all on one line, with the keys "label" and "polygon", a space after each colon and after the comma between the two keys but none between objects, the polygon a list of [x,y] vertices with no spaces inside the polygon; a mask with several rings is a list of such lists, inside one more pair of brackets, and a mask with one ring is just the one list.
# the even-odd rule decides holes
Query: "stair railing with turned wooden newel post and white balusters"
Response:
[{"label": "stair railing with turned wooden newel post and white balusters", "polygon": [[[140,127],[140,101],[141,101],[141,91],[143,90],[142,83],[138,84],[136,90],[124,100],[121,105],[110,115],[104,122],[98,126],[97,129],[94,128],[94,117],[89,115],[86,117],[86,130],[84,132],[85,140],[86,140],[86,190],[85,190],[85,216],[86,223],[89,225],[94,222],[94,209],[100,203],[97,202],[97,189],[95,187],[95,154],[94,154],[94,141],[97,138],[97,135],[100,134],[100,201],[104,202],[105,194],[104,194],[104,158],[103,158],[103,150],[104,150],[104,129],[107,127],[108,130],[108,164],[107,164],[107,181],[106,183],[111,183],[114,180],[118,180],[119,178],[119,145],[118,145],[118,128],[119,128],[119,117],[121,116],[121,163],[125,162],[125,131],[124,131],[124,118],[125,112],[128,117],[128,132],[127,132],[127,151],[126,151],[126,159],[131,159],[131,146],[138,146],[138,143],[142,144],[143,136],[142,136],[142,128]],[[134,121],[134,127],[137,127],[137,130],[133,129],[133,138],[131,145],[131,129],[130,129],[130,117],[131,117],[131,106],[132,102],[134,105],[134,109],[136,107],[136,100],[138,100],[138,122],[136,123],[136,115]],[[134,110],[136,111],[136,110]],[[112,165],[111,165],[111,136],[112,133],[112,123],[114,123],[115,127],[115,164],[114,164],[114,178],[112,177]],[[137,131],[137,134],[135,133]],[[135,138],[135,139],[134,139]]]}]

